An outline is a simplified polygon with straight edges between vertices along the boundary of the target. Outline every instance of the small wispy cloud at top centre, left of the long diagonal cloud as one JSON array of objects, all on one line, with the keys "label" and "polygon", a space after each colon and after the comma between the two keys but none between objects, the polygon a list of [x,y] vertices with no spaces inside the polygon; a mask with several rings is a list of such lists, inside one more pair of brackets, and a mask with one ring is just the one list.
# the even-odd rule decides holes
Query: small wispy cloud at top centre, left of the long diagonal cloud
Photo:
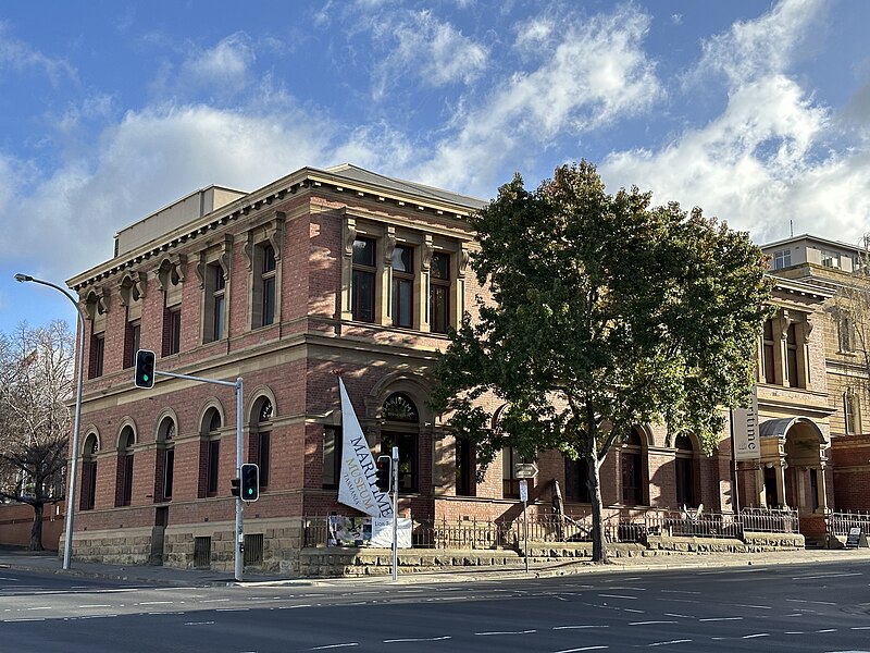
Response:
[{"label": "small wispy cloud at top centre, left of the long diagonal cloud", "polygon": [[425,86],[471,84],[486,69],[488,51],[430,11],[378,14],[373,38],[387,54],[375,66],[373,95],[413,78]]}]

